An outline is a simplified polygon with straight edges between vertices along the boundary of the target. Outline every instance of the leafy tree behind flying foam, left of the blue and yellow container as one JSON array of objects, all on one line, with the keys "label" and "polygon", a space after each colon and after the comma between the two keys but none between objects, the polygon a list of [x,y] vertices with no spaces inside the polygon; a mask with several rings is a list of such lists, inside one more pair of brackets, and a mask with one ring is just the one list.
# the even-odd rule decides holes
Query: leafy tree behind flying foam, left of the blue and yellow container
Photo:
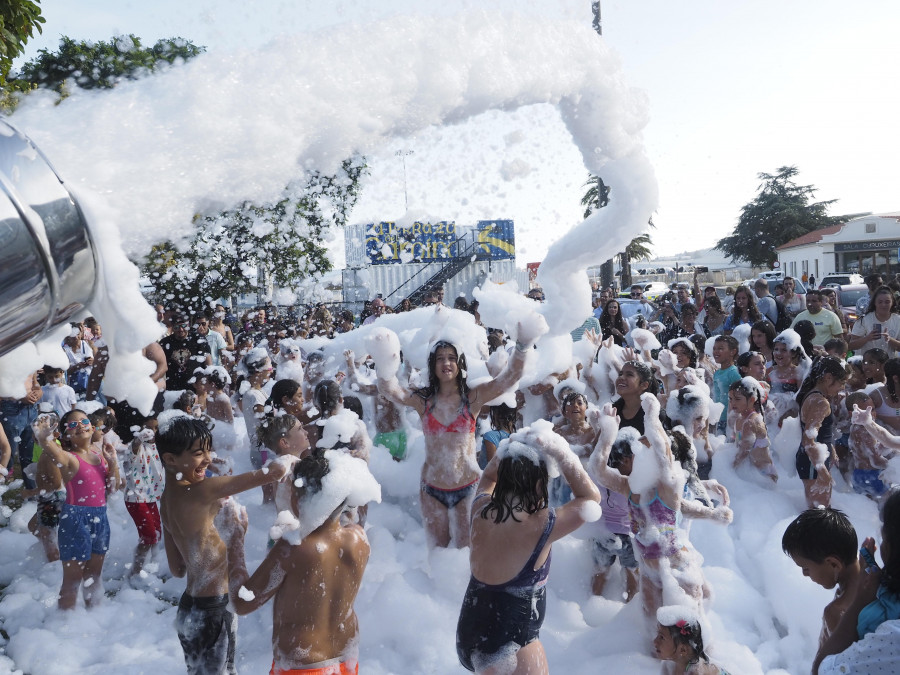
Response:
[{"label": "leafy tree behind flying foam, left of the blue and yellow container", "polygon": [[187,310],[265,291],[260,278],[296,288],[331,269],[322,242],[328,230],[346,224],[365,171],[363,158],[348,159],[335,175],[312,173],[302,184],[289,186],[275,203],[245,202],[198,216],[186,248],[172,242],[154,247],[141,271],[155,285],[160,302]]}]

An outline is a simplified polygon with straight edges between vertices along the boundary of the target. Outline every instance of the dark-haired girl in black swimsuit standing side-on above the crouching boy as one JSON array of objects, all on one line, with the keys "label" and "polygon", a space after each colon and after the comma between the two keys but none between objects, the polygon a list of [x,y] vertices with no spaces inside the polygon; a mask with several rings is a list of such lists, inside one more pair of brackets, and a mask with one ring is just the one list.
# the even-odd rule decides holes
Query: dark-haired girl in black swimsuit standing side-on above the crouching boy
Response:
[{"label": "dark-haired girl in black swimsuit standing side-on above the crouching boy", "polygon": [[822,356],[813,363],[809,375],[797,392],[800,406],[800,447],[797,449],[797,475],[803,481],[808,508],[831,505],[831,463],[834,453],[834,420],[831,399],[843,389],[846,366],[833,356]]}]

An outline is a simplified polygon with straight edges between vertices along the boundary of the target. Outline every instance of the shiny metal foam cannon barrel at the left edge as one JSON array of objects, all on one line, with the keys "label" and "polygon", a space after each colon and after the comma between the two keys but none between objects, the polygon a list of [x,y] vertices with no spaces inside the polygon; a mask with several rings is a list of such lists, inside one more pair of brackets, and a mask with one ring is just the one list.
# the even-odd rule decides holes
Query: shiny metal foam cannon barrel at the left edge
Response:
[{"label": "shiny metal foam cannon barrel at the left edge", "polygon": [[97,269],[75,198],[37,146],[0,119],[0,356],[84,309]]}]

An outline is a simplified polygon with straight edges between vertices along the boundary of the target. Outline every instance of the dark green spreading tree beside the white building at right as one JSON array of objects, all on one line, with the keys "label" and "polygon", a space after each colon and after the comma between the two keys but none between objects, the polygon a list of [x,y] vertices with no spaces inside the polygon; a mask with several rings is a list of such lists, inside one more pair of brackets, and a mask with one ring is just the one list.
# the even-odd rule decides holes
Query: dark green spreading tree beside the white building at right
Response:
[{"label": "dark green spreading tree beside the white building at right", "polygon": [[778,258],[775,249],[808,232],[841,222],[827,214],[835,199],[812,201],[816,189],[797,185],[795,166],[782,166],[777,173],[761,173],[756,198],[745,204],[732,233],[719,240],[716,248],[732,260],[744,260],[754,267],[771,267]]}]

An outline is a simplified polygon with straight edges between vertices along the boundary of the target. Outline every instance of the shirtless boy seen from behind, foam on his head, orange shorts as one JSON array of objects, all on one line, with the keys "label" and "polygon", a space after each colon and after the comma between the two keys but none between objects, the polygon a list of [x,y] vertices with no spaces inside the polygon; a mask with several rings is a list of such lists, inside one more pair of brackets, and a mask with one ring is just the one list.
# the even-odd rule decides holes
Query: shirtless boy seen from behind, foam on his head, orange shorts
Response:
[{"label": "shirtless boy seen from behind, foam on his head, orange shorts", "polygon": [[[294,467],[291,510],[309,508],[322,494],[328,459],[307,455]],[[300,487],[297,487],[300,485]],[[362,527],[342,523],[340,504],[299,544],[279,539],[252,576],[244,562],[245,514],[232,511],[228,530],[231,602],[238,614],[273,596],[273,675],[356,675],[359,625],[353,603],[369,560]]]}]

